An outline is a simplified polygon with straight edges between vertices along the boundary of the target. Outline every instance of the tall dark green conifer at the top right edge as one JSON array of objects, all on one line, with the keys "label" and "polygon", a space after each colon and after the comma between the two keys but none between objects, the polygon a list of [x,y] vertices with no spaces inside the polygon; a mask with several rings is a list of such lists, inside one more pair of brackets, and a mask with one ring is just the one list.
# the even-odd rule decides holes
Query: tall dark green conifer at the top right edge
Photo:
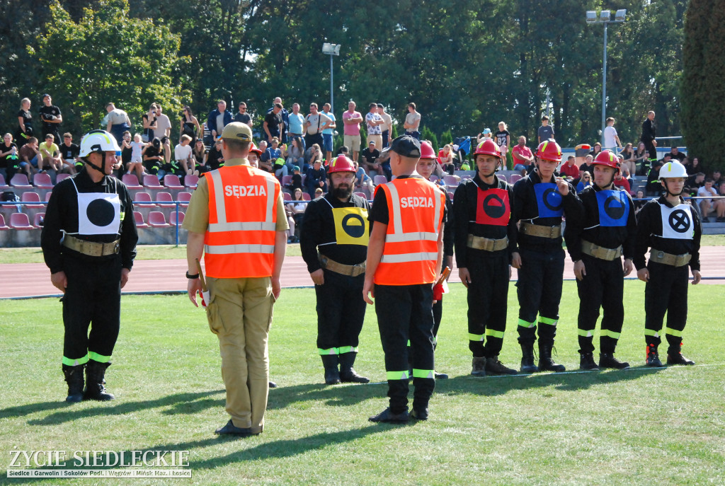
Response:
[{"label": "tall dark green conifer at the top right edge", "polygon": [[684,24],[682,125],[688,153],[724,169],[725,1],[691,0]]}]

